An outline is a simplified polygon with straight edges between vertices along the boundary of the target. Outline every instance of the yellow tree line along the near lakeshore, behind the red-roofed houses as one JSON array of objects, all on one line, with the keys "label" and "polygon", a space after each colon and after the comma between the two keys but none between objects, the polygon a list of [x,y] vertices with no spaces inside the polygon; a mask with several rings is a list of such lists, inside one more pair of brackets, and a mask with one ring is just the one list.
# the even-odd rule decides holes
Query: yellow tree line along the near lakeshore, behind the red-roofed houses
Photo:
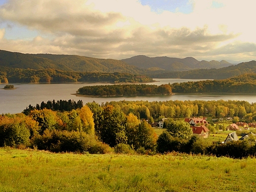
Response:
[{"label": "yellow tree line along the near lakeshore, behind the red-roofed houses", "polygon": [[207,116],[212,118],[237,117],[247,123],[256,121],[256,103],[235,100],[168,100],[168,101],[111,101],[106,105],[120,108],[126,115],[133,113],[140,119],[189,118]]}]

